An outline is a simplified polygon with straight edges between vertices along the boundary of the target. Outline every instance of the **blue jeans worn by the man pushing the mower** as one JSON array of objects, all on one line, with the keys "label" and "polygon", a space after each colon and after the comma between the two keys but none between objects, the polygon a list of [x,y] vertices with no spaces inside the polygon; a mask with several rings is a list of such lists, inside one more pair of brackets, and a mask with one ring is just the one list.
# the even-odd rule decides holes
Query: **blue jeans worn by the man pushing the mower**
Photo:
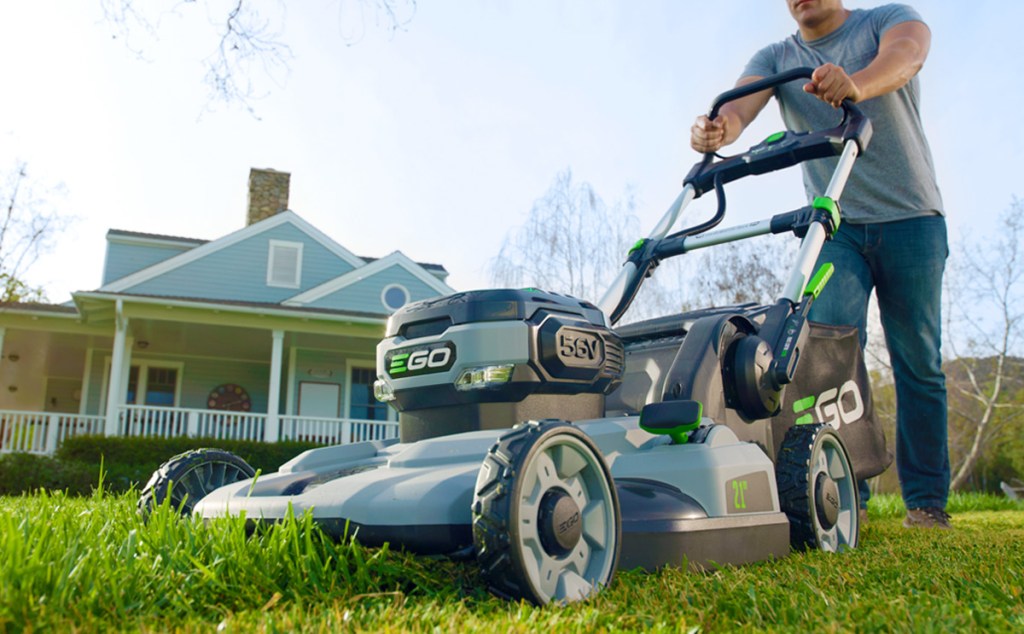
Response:
[{"label": "blue jeans worn by the man pushing the mower", "polygon": [[[844,222],[818,262],[836,272],[811,306],[810,319],[856,326],[867,341],[873,289],[896,384],[896,470],[908,509],[945,508],[949,495],[946,379],[942,338],[942,272],[949,250],[942,216],[896,222]],[[860,483],[861,504],[869,491]]]}]

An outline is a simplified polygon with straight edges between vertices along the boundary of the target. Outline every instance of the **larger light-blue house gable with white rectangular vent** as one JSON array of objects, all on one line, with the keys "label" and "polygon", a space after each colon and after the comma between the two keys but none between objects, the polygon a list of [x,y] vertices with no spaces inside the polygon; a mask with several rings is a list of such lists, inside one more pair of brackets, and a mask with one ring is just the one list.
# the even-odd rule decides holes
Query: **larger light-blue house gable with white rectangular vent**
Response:
[{"label": "larger light-blue house gable with white rectangular vent", "polygon": [[[268,284],[275,248],[301,254],[298,284]],[[279,258],[280,259],[280,258]],[[285,211],[104,285],[101,291],[212,300],[281,302],[361,267],[364,261]]]}]

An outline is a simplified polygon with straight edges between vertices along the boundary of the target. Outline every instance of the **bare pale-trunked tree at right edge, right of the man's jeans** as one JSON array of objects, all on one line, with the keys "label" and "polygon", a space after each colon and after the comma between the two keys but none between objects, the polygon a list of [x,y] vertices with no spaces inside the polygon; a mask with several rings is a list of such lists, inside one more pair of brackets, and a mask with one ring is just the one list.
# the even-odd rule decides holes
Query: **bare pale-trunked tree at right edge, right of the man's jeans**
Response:
[{"label": "bare pale-trunked tree at right edge, right of the man's jeans", "polygon": [[998,438],[1024,419],[1024,203],[999,217],[994,239],[968,241],[947,274],[951,487],[964,487]]}]

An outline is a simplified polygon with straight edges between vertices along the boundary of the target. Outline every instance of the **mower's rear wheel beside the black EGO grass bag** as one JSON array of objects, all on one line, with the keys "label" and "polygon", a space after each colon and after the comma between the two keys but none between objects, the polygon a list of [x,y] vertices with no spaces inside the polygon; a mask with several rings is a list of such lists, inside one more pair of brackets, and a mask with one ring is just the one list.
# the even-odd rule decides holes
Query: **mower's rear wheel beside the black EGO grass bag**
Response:
[{"label": "mower's rear wheel beside the black EGO grass bag", "polygon": [[831,427],[791,427],[778,452],[775,477],[795,549],[839,552],[857,547],[857,478],[843,440]]}]

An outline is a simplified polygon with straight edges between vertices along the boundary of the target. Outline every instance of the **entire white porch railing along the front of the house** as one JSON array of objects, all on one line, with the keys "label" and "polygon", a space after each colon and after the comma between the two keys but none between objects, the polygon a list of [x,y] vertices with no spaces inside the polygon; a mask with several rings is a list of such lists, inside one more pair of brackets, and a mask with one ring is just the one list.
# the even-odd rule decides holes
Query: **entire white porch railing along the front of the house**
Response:
[{"label": "entire white porch railing along the front of the house", "polygon": [[[266,414],[125,406],[118,418],[118,435],[123,436],[256,441],[266,437]],[[281,440],[341,445],[398,436],[394,421],[279,416],[278,424]],[[52,454],[67,437],[101,434],[104,429],[102,416],[0,411],[0,453]]]}]

